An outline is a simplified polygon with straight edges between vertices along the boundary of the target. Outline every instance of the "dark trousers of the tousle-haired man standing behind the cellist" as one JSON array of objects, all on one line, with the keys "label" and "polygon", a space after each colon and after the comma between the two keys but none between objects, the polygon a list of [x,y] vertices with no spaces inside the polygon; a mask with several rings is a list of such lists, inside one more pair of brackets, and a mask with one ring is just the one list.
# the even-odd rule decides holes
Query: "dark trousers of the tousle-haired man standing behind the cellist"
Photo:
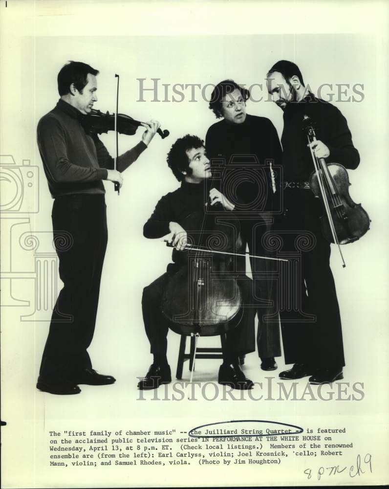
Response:
[{"label": "dark trousers of the tousle-haired man standing behind the cellist", "polygon": [[[261,218],[241,220],[243,249],[248,244],[250,255],[273,256],[263,246],[262,238],[271,229],[271,223]],[[239,260],[238,267],[245,270],[245,259]],[[280,316],[276,300],[277,262],[250,257],[254,281],[254,300],[257,304],[258,334],[257,346],[260,358],[281,356]]]}]

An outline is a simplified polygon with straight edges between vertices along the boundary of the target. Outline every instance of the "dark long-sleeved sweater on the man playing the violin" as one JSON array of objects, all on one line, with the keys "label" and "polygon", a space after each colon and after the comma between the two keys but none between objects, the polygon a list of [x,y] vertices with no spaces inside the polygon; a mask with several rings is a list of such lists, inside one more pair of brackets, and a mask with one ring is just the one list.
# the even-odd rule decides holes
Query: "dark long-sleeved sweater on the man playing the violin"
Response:
[{"label": "dark long-sleeved sweater on the man playing the violin", "polygon": [[[38,123],[37,140],[44,173],[53,198],[70,194],[104,194],[102,180],[113,170],[113,158],[97,134],[85,132],[84,115],[60,99]],[[119,156],[123,172],[147,148],[141,141]]]}]

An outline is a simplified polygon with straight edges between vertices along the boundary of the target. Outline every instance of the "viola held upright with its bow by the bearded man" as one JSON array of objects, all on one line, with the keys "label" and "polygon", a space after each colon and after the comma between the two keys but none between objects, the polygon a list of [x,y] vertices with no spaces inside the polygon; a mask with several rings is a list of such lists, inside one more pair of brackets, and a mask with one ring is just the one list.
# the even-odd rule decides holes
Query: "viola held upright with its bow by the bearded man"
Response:
[{"label": "viola held upright with its bow by the bearded man", "polygon": [[[316,141],[316,134],[311,119],[304,115],[304,131],[308,144]],[[309,178],[309,186],[315,197],[323,203],[325,215],[320,218],[324,238],[329,243],[338,245],[343,259],[340,244],[353,243],[370,229],[370,219],[361,204],[356,204],[348,193],[351,185],[346,168],[339,163],[326,164],[324,158],[316,157],[311,149],[315,170]]]}]

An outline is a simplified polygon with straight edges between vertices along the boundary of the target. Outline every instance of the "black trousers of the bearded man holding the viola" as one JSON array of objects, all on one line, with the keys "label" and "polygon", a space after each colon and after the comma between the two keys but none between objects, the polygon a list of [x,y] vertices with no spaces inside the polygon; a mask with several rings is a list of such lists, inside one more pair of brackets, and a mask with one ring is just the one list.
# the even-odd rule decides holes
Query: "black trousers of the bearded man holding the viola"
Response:
[{"label": "black trousers of the bearded man holding the viola", "polygon": [[[284,274],[291,280],[281,283],[282,342],[285,363],[340,368],[345,365],[342,325],[329,266],[330,244],[323,237],[319,214],[318,200],[309,189],[285,192],[285,212],[277,230],[283,257],[294,264],[294,271]],[[296,297],[293,288],[300,303],[295,311],[293,299],[288,305],[288,298]]]}]

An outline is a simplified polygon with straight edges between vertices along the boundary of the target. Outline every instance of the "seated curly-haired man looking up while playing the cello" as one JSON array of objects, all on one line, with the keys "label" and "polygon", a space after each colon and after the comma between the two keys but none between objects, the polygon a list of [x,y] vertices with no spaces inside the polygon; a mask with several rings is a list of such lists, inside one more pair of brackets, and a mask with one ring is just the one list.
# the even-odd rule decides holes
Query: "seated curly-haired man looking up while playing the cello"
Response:
[{"label": "seated curly-haired man looking up while playing the cello", "polygon": [[[157,278],[143,290],[142,312],[146,334],[151,345],[153,363],[146,377],[138,383],[139,389],[155,389],[161,384],[172,381],[167,360],[167,334],[170,321],[163,314],[161,304],[170,281],[183,267],[188,267],[188,243],[190,231],[185,229],[188,217],[197,216],[198,227],[191,229],[203,231],[205,211],[220,208],[217,215],[233,215],[234,204],[227,200],[216,188],[209,184],[212,177],[210,162],[205,154],[204,142],[197,136],[187,134],[177,139],[168,157],[168,165],[181,186],[174,192],[162,197],[143,228],[146,238],[161,238],[172,234],[173,262],[167,272]],[[207,203],[208,202],[208,203]],[[238,222],[238,221],[236,221]],[[197,225],[197,224],[196,224]],[[188,231],[188,233],[187,233]],[[195,235],[196,233],[194,233]],[[185,248],[187,247],[187,250]],[[216,255],[219,256],[219,255]],[[235,258],[235,257],[234,257]],[[233,262],[234,259],[231,260]],[[187,273],[186,275],[190,275]],[[237,273],[235,273],[235,276]],[[174,277],[175,276],[175,277]],[[227,278],[227,280],[230,280]],[[252,294],[252,281],[247,276],[238,279],[242,304],[249,304]],[[185,288],[189,291],[187,281]],[[188,292],[189,295],[189,292]],[[223,352],[223,364],[220,366],[218,382],[236,389],[251,389],[253,382],[240,370],[238,358],[255,351],[254,307],[242,307],[242,318],[238,326],[226,334],[226,346]]]}]

